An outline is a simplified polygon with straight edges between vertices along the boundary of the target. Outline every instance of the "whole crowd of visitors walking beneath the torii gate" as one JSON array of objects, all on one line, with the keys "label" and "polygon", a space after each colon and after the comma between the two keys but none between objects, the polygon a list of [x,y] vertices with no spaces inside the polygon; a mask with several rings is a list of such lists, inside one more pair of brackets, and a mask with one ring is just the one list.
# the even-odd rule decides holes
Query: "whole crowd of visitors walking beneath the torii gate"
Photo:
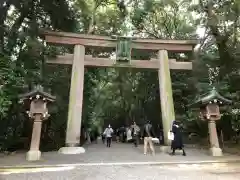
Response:
[{"label": "whole crowd of visitors walking beneath the torii gate", "polygon": [[[184,150],[181,126],[177,121],[173,121],[172,129],[169,132],[171,137],[168,137],[171,143],[171,155],[175,155],[176,150],[182,150],[183,156],[186,156]],[[107,147],[111,147],[112,138],[116,137],[116,142],[119,143],[133,143],[135,147],[138,147],[140,140],[143,140],[143,153],[147,154],[147,150],[150,149],[152,155],[155,154],[154,144],[163,144],[163,131],[158,126],[158,133],[156,135],[153,125],[150,121],[147,121],[142,128],[140,128],[134,121],[129,127],[120,127],[113,130],[111,125],[102,133],[102,142],[106,143]]]}]

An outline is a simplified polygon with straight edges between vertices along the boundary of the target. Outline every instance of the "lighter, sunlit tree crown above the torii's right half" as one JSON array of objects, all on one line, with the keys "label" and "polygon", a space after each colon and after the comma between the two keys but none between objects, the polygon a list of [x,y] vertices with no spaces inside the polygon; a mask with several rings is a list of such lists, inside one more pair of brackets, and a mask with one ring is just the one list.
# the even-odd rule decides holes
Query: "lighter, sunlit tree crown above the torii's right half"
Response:
[{"label": "lighter, sunlit tree crown above the torii's right half", "polygon": [[132,23],[138,33],[163,39],[192,38],[195,27],[184,1],[142,1],[134,4]]}]

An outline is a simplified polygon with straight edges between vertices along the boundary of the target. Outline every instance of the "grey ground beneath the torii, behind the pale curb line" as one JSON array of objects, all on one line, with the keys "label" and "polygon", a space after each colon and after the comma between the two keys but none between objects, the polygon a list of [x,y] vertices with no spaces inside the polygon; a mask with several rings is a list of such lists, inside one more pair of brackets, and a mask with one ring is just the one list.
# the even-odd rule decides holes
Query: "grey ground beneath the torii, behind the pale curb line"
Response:
[{"label": "grey ground beneath the torii, behind the pale curb line", "polygon": [[28,162],[25,153],[0,157],[0,166],[12,165],[57,165],[57,164],[79,164],[79,163],[121,163],[121,162],[179,162],[185,161],[214,161],[214,160],[237,160],[239,156],[225,155],[223,157],[212,157],[206,151],[198,149],[186,149],[187,156],[170,156],[160,152],[160,147],[156,146],[156,155],[143,155],[143,147],[133,147],[132,144],[114,143],[111,148],[105,145],[91,144],[87,147],[86,153],[77,155],[63,155],[57,152],[42,153],[42,160]]}]

